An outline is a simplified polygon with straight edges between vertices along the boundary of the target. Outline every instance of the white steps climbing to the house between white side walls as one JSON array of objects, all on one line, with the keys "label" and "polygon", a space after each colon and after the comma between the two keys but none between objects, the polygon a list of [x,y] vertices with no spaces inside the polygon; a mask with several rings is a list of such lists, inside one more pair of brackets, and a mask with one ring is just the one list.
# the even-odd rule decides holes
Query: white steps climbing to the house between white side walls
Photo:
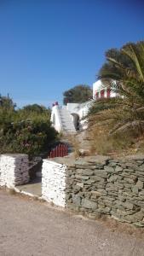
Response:
[{"label": "white steps climbing to the house between white side walls", "polygon": [[72,117],[66,108],[59,108],[60,121],[62,125],[62,131],[66,134],[75,133],[76,129],[72,122]]}]

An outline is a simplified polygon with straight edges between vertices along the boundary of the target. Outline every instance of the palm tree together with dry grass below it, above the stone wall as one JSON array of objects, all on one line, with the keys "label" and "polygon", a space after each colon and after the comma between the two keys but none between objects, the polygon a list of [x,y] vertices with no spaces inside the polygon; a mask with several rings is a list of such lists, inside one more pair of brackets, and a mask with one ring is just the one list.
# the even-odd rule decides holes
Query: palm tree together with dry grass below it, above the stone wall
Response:
[{"label": "palm tree together with dry grass below it, above the stone wall", "polygon": [[134,153],[144,149],[144,42],[110,49],[98,78],[115,98],[95,101],[89,110],[93,151]]}]

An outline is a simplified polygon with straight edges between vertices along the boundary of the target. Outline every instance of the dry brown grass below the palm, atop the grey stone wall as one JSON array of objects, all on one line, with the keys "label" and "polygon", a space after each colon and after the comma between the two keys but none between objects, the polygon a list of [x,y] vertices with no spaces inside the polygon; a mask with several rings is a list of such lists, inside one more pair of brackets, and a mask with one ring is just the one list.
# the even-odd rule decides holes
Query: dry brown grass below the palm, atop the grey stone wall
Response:
[{"label": "dry brown grass below the palm, atop the grey stone wall", "polygon": [[144,152],[144,135],[137,137],[134,131],[109,134],[110,125],[93,124],[89,128],[91,154],[113,156]]}]

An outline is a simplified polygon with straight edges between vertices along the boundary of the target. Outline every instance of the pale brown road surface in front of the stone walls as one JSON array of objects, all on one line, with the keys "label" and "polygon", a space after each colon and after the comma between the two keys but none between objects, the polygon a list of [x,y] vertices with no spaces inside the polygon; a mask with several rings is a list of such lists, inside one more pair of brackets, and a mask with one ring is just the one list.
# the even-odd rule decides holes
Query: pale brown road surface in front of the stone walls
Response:
[{"label": "pale brown road surface in front of the stone walls", "polygon": [[1,256],[142,256],[144,239],[0,190]]}]

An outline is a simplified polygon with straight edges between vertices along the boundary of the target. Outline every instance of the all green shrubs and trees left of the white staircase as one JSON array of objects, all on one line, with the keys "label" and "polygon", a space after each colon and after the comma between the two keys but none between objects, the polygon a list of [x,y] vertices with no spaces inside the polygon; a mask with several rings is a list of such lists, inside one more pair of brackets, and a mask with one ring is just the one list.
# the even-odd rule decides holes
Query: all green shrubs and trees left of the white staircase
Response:
[{"label": "all green shrubs and trees left of the white staircase", "polygon": [[0,154],[43,154],[57,138],[50,110],[37,104],[15,110],[9,97],[0,97]]}]

